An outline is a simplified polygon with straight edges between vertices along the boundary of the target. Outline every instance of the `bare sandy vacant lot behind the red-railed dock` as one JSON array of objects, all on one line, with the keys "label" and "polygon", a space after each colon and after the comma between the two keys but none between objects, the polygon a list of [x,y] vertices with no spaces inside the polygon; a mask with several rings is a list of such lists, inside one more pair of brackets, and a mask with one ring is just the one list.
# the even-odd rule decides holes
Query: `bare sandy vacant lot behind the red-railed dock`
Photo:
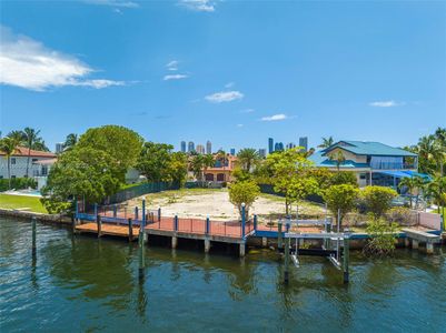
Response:
[{"label": "bare sandy vacant lot behind the red-railed dock", "polygon": [[[143,196],[133,199],[129,205],[140,205]],[[229,194],[224,190],[182,190],[166,191],[145,195],[150,210],[161,208],[162,215],[181,218],[204,218],[211,220],[237,220],[237,209],[229,202]],[[323,210],[309,203],[301,208],[301,213],[320,213]],[[261,195],[252,205],[250,214],[257,214],[260,221],[268,221],[285,213],[285,203],[275,195]]]}]

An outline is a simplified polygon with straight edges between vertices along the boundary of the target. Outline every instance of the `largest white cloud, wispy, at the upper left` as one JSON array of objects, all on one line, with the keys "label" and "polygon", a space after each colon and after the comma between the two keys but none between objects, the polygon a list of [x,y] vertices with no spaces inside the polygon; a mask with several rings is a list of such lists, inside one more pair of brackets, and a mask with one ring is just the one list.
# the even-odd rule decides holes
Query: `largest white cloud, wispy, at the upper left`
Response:
[{"label": "largest white cloud, wispy, at the upper left", "polygon": [[95,72],[76,57],[46,48],[0,26],[0,83],[43,91],[51,87],[85,85],[101,89],[123,81],[88,79]]}]

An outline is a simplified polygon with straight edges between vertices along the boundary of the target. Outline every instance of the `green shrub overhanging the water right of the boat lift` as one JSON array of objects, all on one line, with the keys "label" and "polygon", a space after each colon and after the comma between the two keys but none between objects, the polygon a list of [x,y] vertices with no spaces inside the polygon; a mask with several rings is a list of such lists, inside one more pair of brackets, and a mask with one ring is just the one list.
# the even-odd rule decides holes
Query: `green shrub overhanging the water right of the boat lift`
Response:
[{"label": "green shrub overhanging the water right of the boat lift", "polygon": [[370,221],[367,225],[367,233],[370,240],[364,248],[364,253],[367,255],[388,255],[395,250],[397,232],[399,226],[395,222],[387,222],[383,218],[374,218],[370,215]]}]

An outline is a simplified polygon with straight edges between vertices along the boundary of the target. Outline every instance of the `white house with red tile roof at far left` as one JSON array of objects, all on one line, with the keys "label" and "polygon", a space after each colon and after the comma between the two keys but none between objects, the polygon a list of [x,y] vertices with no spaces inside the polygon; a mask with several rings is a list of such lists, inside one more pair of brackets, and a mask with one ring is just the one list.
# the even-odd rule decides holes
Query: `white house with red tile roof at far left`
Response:
[{"label": "white house with red tile roof at far left", "polygon": [[[47,176],[48,171],[57,161],[57,155],[52,152],[29,150],[24,147],[18,147],[16,153],[11,155],[11,178],[22,178],[27,174],[28,153],[29,176],[39,178]],[[0,151],[0,179],[8,178],[8,159],[4,152]]]}]

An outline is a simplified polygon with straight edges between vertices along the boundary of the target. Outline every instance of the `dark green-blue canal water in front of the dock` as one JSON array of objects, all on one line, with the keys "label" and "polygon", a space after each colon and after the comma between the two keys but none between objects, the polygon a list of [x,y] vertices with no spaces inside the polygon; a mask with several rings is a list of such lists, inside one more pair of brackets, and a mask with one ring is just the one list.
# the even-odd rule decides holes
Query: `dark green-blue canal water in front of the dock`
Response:
[{"label": "dark green-blue canal water in front of the dock", "polygon": [[[72,236],[0,218],[0,331],[4,332],[446,332],[446,255],[351,254],[350,284],[327,260],[304,259],[283,284],[268,250],[245,259]],[[214,249],[212,249],[214,250]]]}]

